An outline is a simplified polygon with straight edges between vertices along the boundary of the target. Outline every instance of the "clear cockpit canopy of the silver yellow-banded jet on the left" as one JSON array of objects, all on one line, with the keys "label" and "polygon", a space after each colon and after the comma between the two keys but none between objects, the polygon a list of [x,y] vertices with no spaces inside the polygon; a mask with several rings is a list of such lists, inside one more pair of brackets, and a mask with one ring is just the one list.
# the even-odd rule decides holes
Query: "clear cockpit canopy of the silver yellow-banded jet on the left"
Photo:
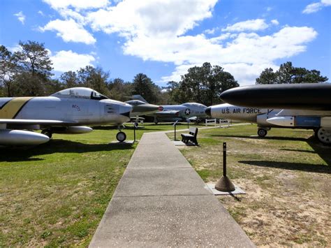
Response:
[{"label": "clear cockpit canopy of the silver yellow-banded jet on the left", "polygon": [[70,97],[70,98],[82,98],[82,99],[93,99],[93,100],[108,99],[107,96],[103,96],[103,94],[96,92],[94,89],[85,88],[85,87],[63,89],[50,96],[56,96],[59,98]]}]

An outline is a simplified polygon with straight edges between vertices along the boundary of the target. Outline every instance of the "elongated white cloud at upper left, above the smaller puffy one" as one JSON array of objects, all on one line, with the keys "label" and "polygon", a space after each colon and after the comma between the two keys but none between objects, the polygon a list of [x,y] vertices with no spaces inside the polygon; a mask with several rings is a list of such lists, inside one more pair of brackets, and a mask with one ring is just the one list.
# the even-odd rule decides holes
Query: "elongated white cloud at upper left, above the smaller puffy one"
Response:
[{"label": "elongated white cloud at upper left, above the smaller puffy one", "polygon": [[81,42],[85,44],[94,44],[96,39],[89,34],[89,32],[82,27],[82,25],[75,22],[75,20],[54,20],[48,22],[45,27],[39,28],[41,31],[57,31],[57,36],[61,37],[65,42]]}]

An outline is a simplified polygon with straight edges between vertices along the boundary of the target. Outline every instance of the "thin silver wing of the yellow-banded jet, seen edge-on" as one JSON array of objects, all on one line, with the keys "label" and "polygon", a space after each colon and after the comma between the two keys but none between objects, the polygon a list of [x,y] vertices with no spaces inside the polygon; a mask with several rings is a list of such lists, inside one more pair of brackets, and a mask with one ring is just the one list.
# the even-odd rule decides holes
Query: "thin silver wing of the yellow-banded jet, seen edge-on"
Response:
[{"label": "thin silver wing of the yellow-banded jet, seen edge-on", "polygon": [[0,119],[0,124],[74,126],[77,122],[66,122],[55,119]]}]

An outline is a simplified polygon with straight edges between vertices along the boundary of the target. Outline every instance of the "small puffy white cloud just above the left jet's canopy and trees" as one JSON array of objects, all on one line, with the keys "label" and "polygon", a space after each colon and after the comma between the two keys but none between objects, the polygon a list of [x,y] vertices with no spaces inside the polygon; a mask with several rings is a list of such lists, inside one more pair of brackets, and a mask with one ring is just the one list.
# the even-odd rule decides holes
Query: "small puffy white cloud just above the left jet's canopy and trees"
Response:
[{"label": "small puffy white cloud just above the left jet's canopy and trees", "polygon": [[53,62],[54,71],[77,71],[85,66],[92,66],[96,59],[91,54],[78,54],[71,50],[56,52],[50,59]]}]

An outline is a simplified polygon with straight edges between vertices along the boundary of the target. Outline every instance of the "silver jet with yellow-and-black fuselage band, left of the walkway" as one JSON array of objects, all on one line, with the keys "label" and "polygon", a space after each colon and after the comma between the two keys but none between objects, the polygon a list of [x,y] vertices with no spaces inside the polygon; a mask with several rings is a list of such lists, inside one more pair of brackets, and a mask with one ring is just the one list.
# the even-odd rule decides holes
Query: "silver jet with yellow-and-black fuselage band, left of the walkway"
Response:
[{"label": "silver jet with yellow-and-black fuselage band, left of the walkway", "polygon": [[[52,133],[88,133],[84,125],[120,126],[130,119],[131,105],[108,99],[93,89],[64,89],[51,96],[0,98],[0,145],[38,145]],[[42,130],[35,133],[28,130]],[[124,141],[126,134],[117,133]]]}]

